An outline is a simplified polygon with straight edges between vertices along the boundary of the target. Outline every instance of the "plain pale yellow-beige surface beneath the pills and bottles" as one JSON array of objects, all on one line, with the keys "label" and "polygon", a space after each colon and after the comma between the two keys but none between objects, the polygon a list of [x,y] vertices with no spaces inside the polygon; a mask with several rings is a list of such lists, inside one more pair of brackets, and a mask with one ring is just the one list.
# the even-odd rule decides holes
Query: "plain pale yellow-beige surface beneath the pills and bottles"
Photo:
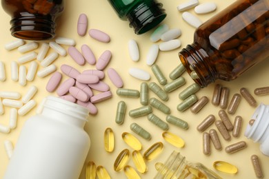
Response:
[{"label": "plain pale yellow-beige surface beneath the pills and bottles", "polygon": [[[190,27],[186,22],[184,22],[181,18],[181,12],[177,11],[177,6],[179,3],[183,3],[184,1],[179,0],[169,0],[164,1],[160,0],[163,3],[163,7],[166,8],[166,12],[168,13],[167,18],[163,23],[166,23],[169,25],[170,28],[180,28],[182,30],[182,35],[179,37],[181,39],[181,48],[184,48],[187,44],[192,43],[193,39],[193,33],[195,31],[194,28]],[[208,2],[207,0],[201,0],[200,3]],[[221,11],[223,8],[226,8],[230,3],[232,3],[232,0],[228,1],[221,1],[216,0],[215,3],[217,3],[217,10],[215,12],[212,12],[210,14],[205,15],[199,15],[199,18],[202,21],[206,21],[210,17],[212,17],[214,14],[217,14],[217,12]],[[100,43],[98,41],[95,41],[94,39],[90,38],[88,34],[86,36],[79,36],[77,34],[77,18],[79,17],[80,13],[86,13],[88,15],[88,29],[90,28],[97,28],[99,30],[103,30],[104,32],[107,32],[111,36],[111,42],[106,43]],[[189,10],[189,12],[194,13],[193,10]],[[10,28],[10,17],[3,12],[2,9],[0,9],[0,20],[1,20],[1,33],[0,33],[0,60],[3,61],[6,65],[6,71],[7,71],[7,80],[5,82],[0,82],[0,90],[12,90],[12,91],[18,91],[21,92],[21,94],[26,94],[27,90],[31,85],[36,85],[39,88],[39,92],[34,96],[34,100],[37,101],[37,103],[41,102],[41,99],[48,95],[55,95],[55,94],[49,94],[46,92],[46,83],[50,76],[47,76],[45,78],[39,78],[36,77],[33,82],[28,82],[25,87],[21,87],[19,83],[14,82],[10,79],[10,62],[11,61],[17,61],[19,56],[21,54],[17,50],[12,50],[10,52],[7,52],[3,45],[14,40],[14,38],[10,35],[9,28]],[[146,65],[146,55],[148,53],[148,50],[150,46],[152,45],[152,42],[149,40],[150,34],[152,31],[142,34],[140,36],[137,36],[131,28],[128,26],[128,22],[121,21],[117,14],[114,13],[114,10],[110,7],[108,1],[102,0],[102,1],[88,1],[88,0],[81,0],[81,1],[66,1],[66,10],[59,19],[58,28],[57,28],[57,35],[58,36],[65,36],[68,38],[75,39],[77,41],[76,47],[80,49],[81,45],[86,43],[90,45],[90,48],[92,48],[92,51],[94,52],[95,56],[98,58],[100,54],[104,50],[111,50],[112,52],[112,60],[110,61],[108,67],[114,67],[117,72],[121,75],[124,81],[124,87],[130,88],[130,89],[139,89],[141,81],[132,78],[128,74],[128,69],[130,67],[139,67],[143,70],[146,70],[151,75],[150,81],[157,82],[157,79],[155,78],[154,74],[152,74],[152,71],[150,70],[150,67]],[[141,58],[138,62],[133,62],[130,60],[130,57],[128,55],[128,41],[130,39],[135,39],[137,43],[139,44],[139,50]],[[160,43],[160,42],[157,42]],[[40,43],[41,44],[41,43]],[[39,44],[39,46],[40,46]],[[65,46],[67,49],[68,47]],[[156,64],[159,65],[161,68],[163,74],[168,78],[169,73],[177,66],[179,65],[179,58],[177,56],[177,53],[180,49],[173,50],[171,52],[160,52]],[[38,50],[36,50],[38,52]],[[50,51],[52,52],[52,51]],[[84,65],[79,66],[72,59],[70,59],[70,56],[66,57],[59,57],[55,63],[57,67],[60,67],[61,64],[69,64],[73,65],[74,67],[77,67],[80,71],[86,70],[86,69],[94,69],[94,66],[92,65]],[[26,64],[28,67],[29,64]],[[235,81],[232,82],[224,82],[224,81],[217,81],[217,83],[220,83],[223,86],[230,88],[230,98],[233,94],[239,93],[240,87],[246,87],[252,92],[256,87],[263,87],[269,85],[268,83],[268,66],[269,61],[263,61],[263,63],[255,66],[250,70],[249,72],[246,72],[243,74],[240,78],[238,78]],[[107,68],[108,68],[107,67]],[[106,70],[107,70],[106,68]],[[41,66],[39,67],[39,70],[41,69]],[[59,68],[58,68],[59,70]],[[106,70],[104,70],[106,72]],[[116,87],[114,87],[108,78],[103,80],[108,85],[110,85],[110,89],[112,91],[113,97],[110,98],[107,101],[103,101],[102,103],[97,104],[97,108],[99,109],[99,112],[95,116],[90,116],[89,122],[86,124],[86,131],[90,135],[90,138],[92,140],[92,146],[90,148],[86,163],[90,160],[94,161],[96,165],[103,165],[103,167],[106,167],[108,170],[108,173],[110,173],[111,178],[126,178],[123,171],[116,172],[113,170],[113,163],[115,158],[117,157],[117,154],[122,149],[128,148],[126,143],[123,142],[121,139],[121,134],[124,131],[128,131],[132,134],[134,134],[132,131],[130,131],[130,123],[136,122],[142,125],[145,129],[150,131],[152,134],[152,139],[150,141],[144,140],[143,138],[137,136],[141,143],[143,144],[142,153],[150,147],[150,145],[161,141],[164,145],[163,152],[154,160],[151,160],[147,163],[148,166],[148,172],[147,173],[139,173],[141,178],[153,178],[155,176],[156,170],[155,170],[155,163],[156,162],[163,162],[168,158],[170,153],[173,150],[180,151],[183,156],[186,156],[187,160],[191,161],[197,161],[201,162],[204,165],[206,165],[208,168],[213,169],[212,164],[216,160],[224,160],[226,162],[230,162],[233,165],[236,165],[239,169],[238,173],[235,175],[230,175],[226,173],[221,173],[216,171],[219,176],[223,178],[255,178],[255,173],[252,169],[252,164],[250,162],[250,156],[252,154],[257,154],[261,160],[261,165],[263,166],[263,172],[265,178],[269,178],[269,171],[266,170],[266,167],[269,165],[269,158],[261,154],[259,151],[259,144],[252,143],[252,140],[248,140],[245,136],[243,136],[243,132],[246,129],[246,125],[248,123],[248,120],[250,120],[250,116],[255,111],[254,107],[250,107],[248,103],[242,99],[241,103],[239,105],[239,108],[237,109],[237,112],[235,115],[230,115],[230,119],[233,121],[235,116],[240,115],[243,117],[243,128],[241,131],[241,136],[239,138],[232,138],[230,142],[226,142],[221,138],[221,144],[223,146],[223,149],[221,151],[217,151],[212,147],[212,153],[210,156],[205,156],[202,152],[202,135],[196,130],[197,125],[209,114],[214,114],[217,119],[219,119],[218,112],[219,107],[213,106],[211,103],[208,103],[206,107],[204,107],[199,114],[192,114],[190,110],[187,110],[186,112],[178,112],[177,111],[177,105],[181,102],[178,98],[179,92],[181,92],[185,87],[192,84],[192,79],[188,76],[187,73],[183,74],[183,76],[186,78],[186,85],[184,87],[181,87],[177,89],[174,92],[171,92],[169,94],[170,99],[166,103],[172,111],[172,115],[177,116],[179,118],[182,118],[183,120],[186,120],[190,128],[187,131],[183,131],[182,129],[179,129],[178,127],[170,126],[169,131],[177,134],[183,140],[185,140],[186,145],[182,149],[177,149],[176,147],[173,147],[169,143],[167,143],[165,140],[163,140],[161,134],[163,131],[156,127],[155,125],[152,125],[146,118],[146,116],[141,118],[130,118],[128,114],[126,114],[125,122],[123,125],[117,125],[114,122],[114,117],[116,114],[116,108],[117,103],[121,100],[126,101],[127,104],[127,112],[130,109],[134,109],[137,107],[140,107],[139,99],[132,99],[132,98],[121,98],[117,96],[116,94]],[[64,76],[63,80],[67,77]],[[170,79],[168,78],[168,81]],[[201,89],[199,92],[197,92],[197,96],[208,96],[208,98],[212,98],[212,91],[215,84],[209,85],[205,89]],[[98,92],[94,92],[97,94]],[[155,96],[155,94],[150,93],[150,97]],[[229,98],[229,101],[230,101]],[[269,96],[255,96],[258,103],[265,103],[269,104]],[[3,177],[3,173],[6,170],[6,167],[8,165],[8,157],[6,156],[6,151],[3,146],[3,140],[11,140],[14,145],[16,145],[17,138],[19,136],[19,133],[21,131],[21,127],[23,127],[23,123],[32,115],[34,115],[35,107],[32,112],[27,114],[26,116],[19,116],[17,128],[13,129],[10,134],[0,134],[0,178]],[[0,116],[0,123],[3,125],[8,125],[8,118],[9,118],[9,110],[10,108],[5,107],[5,114]],[[157,114],[160,118],[165,120],[165,115],[161,112],[154,109],[154,113]],[[114,151],[111,154],[108,154],[105,149],[103,148],[103,132],[107,127],[111,127],[114,131],[115,135],[115,148]],[[215,125],[212,125],[212,127],[215,128]],[[230,145],[232,143],[236,143],[239,140],[245,140],[246,143],[248,143],[248,147],[246,149],[243,149],[242,151],[239,151],[235,154],[226,154],[224,151],[224,148],[227,145]],[[130,149],[132,151],[132,149]],[[63,161],[64,162],[64,161]],[[128,161],[128,165],[131,165],[134,167],[134,163],[132,160]],[[81,172],[81,178],[85,177],[85,168]]]}]

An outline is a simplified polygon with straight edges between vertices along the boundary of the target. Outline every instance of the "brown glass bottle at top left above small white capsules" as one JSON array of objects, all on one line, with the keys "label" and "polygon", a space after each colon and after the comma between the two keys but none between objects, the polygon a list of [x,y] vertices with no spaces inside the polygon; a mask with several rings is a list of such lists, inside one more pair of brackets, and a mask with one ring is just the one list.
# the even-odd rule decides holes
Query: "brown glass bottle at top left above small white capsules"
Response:
[{"label": "brown glass bottle at top left above small white capsules", "polygon": [[41,41],[55,36],[56,19],[63,12],[63,0],[1,0],[10,14],[10,32],[19,39]]}]

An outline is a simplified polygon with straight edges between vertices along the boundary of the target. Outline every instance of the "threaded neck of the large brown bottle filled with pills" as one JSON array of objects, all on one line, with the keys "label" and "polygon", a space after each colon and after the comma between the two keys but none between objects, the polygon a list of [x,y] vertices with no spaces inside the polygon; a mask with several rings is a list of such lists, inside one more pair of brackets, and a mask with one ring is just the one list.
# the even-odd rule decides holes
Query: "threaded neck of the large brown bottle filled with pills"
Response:
[{"label": "threaded neck of the large brown bottle filled with pills", "polygon": [[218,78],[214,65],[210,63],[210,55],[197,43],[183,48],[179,52],[179,59],[191,77],[194,72],[197,74],[192,79],[201,87],[214,83]]}]

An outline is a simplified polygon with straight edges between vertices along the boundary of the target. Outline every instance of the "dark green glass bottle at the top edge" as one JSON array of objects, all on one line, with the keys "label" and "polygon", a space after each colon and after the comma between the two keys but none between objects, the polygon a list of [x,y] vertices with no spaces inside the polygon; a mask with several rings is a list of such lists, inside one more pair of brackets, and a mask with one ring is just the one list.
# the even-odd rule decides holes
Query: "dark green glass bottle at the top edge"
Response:
[{"label": "dark green glass bottle at the top edge", "polygon": [[162,3],[155,0],[108,0],[119,18],[130,22],[136,34],[143,34],[166,18]]}]

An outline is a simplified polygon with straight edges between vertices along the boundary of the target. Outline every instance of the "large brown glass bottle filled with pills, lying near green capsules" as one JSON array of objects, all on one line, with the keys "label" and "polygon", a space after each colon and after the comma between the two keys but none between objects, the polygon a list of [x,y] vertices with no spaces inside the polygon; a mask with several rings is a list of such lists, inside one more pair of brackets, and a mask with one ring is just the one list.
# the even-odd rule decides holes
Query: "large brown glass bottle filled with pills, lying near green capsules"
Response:
[{"label": "large brown glass bottle filled with pills, lying near green capsules", "polygon": [[269,56],[269,1],[237,0],[195,31],[179,52],[193,80],[206,87],[232,81]]}]

